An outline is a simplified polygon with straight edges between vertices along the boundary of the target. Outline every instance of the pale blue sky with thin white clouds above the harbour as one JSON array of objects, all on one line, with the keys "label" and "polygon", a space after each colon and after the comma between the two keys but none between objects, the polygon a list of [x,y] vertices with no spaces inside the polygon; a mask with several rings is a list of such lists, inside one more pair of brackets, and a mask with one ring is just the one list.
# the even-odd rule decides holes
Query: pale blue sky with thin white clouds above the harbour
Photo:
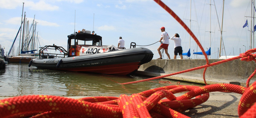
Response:
[{"label": "pale blue sky with thin white clouds above the harbour", "polygon": [[[190,0],[162,0],[162,2],[188,27],[191,27],[191,31],[205,51],[211,43],[211,56],[208,57],[210,59],[219,58],[220,48],[220,55],[223,56],[239,55],[251,47],[255,48],[253,38],[252,46],[250,41],[251,26],[253,29],[250,0],[224,1],[223,22],[222,0],[211,1],[211,18],[210,0],[191,0],[191,22],[189,22]],[[131,42],[135,42],[143,48],[150,49],[154,53],[153,59],[156,59],[159,58],[157,48],[160,42],[157,41],[161,36],[160,28],[164,26],[170,36],[179,33],[183,53],[190,47],[191,59],[204,58],[202,55],[193,55],[193,52],[201,52],[194,39],[191,37],[189,41],[187,31],[154,0],[1,0],[0,44],[5,48],[5,54],[9,52],[20,28],[23,3],[29,24],[35,17],[36,32],[41,47],[55,44],[67,49],[67,36],[85,29],[95,31],[97,35],[102,36],[103,45],[117,47],[119,36],[122,36],[125,48],[130,48]],[[246,20],[249,26],[243,28]],[[220,47],[221,26],[224,46],[222,44]],[[15,41],[15,49],[18,48],[19,40],[20,35]],[[174,56],[173,51],[174,41],[170,40],[168,53],[171,59]],[[164,54],[164,59],[166,58]]]}]

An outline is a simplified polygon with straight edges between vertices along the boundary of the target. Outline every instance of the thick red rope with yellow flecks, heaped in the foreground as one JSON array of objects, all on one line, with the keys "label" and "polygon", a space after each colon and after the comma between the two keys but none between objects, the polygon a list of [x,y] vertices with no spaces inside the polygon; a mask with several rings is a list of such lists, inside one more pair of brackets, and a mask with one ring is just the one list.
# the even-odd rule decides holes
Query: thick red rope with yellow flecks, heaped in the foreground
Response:
[{"label": "thick red rope with yellow flecks, heaped in the foreground", "polygon": [[[182,96],[174,94],[185,92]],[[255,115],[253,104],[256,97],[256,82],[248,89],[232,84],[213,84],[203,87],[191,85],[164,86],[131,96],[87,97],[71,99],[59,96],[27,95],[0,100],[1,118],[36,117],[171,117],[186,118],[181,112],[196,107],[208,100],[210,92],[226,91],[242,94],[238,114],[243,117]],[[163,99],[167,98],[167,99]],[[194,98],[194,99],[193,99]],[[91,101],[91,102],[89,102]],[[112,104],[106,104],[106,102]],[[251,107],[252,106],[252,107]]]}]

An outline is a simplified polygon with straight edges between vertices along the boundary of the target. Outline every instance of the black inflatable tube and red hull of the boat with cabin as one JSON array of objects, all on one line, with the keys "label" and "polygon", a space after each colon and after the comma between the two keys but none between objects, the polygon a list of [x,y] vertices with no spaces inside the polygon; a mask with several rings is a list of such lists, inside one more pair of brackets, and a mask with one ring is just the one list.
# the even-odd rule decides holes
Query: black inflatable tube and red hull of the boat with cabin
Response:
[{"label": "black inflatable tube and red hull of the boat with cabin", "polygon": [[31,65],[41,69],[129,75],[152,58],[153,53],[147,48],[130,48],[66,58],[33,59]]}]

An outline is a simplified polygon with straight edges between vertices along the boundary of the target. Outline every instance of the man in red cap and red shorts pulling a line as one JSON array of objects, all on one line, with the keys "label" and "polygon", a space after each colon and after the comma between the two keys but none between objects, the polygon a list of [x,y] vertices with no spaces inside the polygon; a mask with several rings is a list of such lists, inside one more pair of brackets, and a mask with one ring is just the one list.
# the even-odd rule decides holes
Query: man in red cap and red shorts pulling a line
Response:
[{"label": "man in red cap and red shorts pulling a line", "polygon": [[163,41],[163,43],[159,46],[159,48],[157,49],[159,55],[160,55],[160,58],[157,58],[157,59],[163,59],[162,58],[162,54],[161,54],[161,49],[164,48],[164,51],[165,51],[165,54],[168,56],[168,58],[170,59],[170,55],[168,53],[168,46],[169,46],[169,34],[167,32],[165,32],[165,27],[161,27],[161,39],[159,42]]}]

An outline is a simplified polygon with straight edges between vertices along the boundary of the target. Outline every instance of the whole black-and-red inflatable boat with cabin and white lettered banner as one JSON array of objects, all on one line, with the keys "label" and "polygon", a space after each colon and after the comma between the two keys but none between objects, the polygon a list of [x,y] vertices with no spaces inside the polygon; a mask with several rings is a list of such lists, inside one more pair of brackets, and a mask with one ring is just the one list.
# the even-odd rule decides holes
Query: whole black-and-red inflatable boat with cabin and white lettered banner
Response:
[{"label": "whole black-and-red inflatable boat with cabin and white lettered banner", "polygon": [[[154,55],[147,48],[131,47],[119,49],[113,45],[102,46],[101,36],[83,29],[82,32],[68,35],[68,51],[54,44],[45,46],[39,50],[39,58],[31,60],[28,66],[51,70],[130,75],[136,72],[140,65],[151,61]],[[60,54],[48,53],[52,49],[55,52],[60,51]]]}]

